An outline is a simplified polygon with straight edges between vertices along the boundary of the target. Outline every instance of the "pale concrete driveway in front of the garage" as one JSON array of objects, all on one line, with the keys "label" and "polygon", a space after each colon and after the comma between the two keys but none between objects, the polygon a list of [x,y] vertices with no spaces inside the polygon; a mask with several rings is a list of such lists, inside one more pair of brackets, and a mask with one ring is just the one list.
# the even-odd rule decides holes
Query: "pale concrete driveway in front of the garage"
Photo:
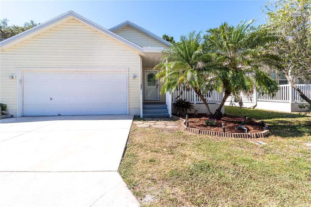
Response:
[{"label": "pale concrete driveway in front of the garage", "polygon": [[0,206],[139,206],[117,172],[132,119],[2,119]]}]

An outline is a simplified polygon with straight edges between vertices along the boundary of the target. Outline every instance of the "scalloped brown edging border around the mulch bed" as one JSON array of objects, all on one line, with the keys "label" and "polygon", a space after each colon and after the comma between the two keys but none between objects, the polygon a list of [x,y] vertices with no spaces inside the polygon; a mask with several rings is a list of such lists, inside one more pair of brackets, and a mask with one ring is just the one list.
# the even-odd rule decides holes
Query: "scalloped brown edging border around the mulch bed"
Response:
[{"label": "scalloped brown edging border around the mulch bed", "polygon": [[[228,117],[236,117],[236,118],[244,118],[244,117],[240,117],[240,116],[235,116],[235,115],[231,115],[231,114],[226,114],[224,113],[224,115],[228,116]],[[230,132],[219,132],[219,131],[208,131],[208,130],[203,130],[203,129],[197,129],[197,128],[192,128],[192,127],[186,127],[186,120],[180,117],[176,117],[174,115],[172,115],[171,117],[172,120],[183,120],[183,124],[182,126],[184,127],[185,131],[194,133],[194,134],[202,134],[202,135],[209,135],[209,136],[219,136],[219,137],[233,137],[233,138],[259,138],[259,137],[265,137],[267,136],[267,134],[270,132],[268,130],[268,126],[265,124],[265,126],[263,127],[264,131],[262,132],[249,132],[249,133],[230,133]],[[254,122],[259,122],[260,121],[256,120],[256,119],[252,119],[249,117],[246,117],[246,120],[253,120]]]}]

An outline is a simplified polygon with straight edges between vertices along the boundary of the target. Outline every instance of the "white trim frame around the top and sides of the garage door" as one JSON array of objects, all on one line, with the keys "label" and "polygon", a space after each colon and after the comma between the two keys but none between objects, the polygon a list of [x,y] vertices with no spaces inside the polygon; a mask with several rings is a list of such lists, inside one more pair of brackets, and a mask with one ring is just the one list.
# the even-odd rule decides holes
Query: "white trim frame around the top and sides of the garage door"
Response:
[{"label": "white trim frame around the top and sides of the garage door", "polygon": [[127,73],[127,114],[129,114],[129,86],[128,86],[128,68],[17,68],[17,117],[23,116],[23,85],[24,85],[24,71],[126,71]]}]

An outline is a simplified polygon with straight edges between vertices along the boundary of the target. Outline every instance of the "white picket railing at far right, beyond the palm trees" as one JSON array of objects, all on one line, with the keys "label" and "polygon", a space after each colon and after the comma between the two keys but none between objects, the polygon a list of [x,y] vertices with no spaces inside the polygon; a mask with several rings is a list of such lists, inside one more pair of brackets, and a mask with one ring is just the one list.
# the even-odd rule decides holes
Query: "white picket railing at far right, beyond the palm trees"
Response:
[{"label": "white picket railing at far right, beyond the palm trees", "polygon": [[[308,97],[311,98],[311,84],[296,84],[296,86]],[[279,85],[280,89],[274,97],[266,94],[258,94],[258,101],[272,102],[301,102],[302,99],[297,90],[291,85]]]}]

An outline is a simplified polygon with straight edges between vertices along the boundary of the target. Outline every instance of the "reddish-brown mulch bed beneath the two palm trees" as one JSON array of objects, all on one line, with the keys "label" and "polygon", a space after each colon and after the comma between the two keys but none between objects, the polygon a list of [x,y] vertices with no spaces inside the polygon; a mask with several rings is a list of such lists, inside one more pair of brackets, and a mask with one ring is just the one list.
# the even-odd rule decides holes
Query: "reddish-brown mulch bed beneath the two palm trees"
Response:
[{"label": "reddish-brown mulch bed beneath the two palm trees", "polygon": [[[183,119],[186,118],[185,116],[179,116],[179,117]],[[217,120],[216,124],[213,126],[207,126],[204,122],[204,120],[206,119],[207,119],[207,116],[205,113],[199,113],[197,115],[188,114],[189,127],[208,130],[208,131],[222,132],[221,124],[224,123],[226,132],[245,133],[244,129],[239,129],[239,130],[236,129],[239,126],[239,124],[235,120],[236,118],[227,117],[226,115],[223,115],[221,120]],[[263,131],[263,128],[260,122],[258,123],[258,122],[254,122],[251,120],[247,120],[245,123],[245,127],[248,128],[248,132],[262,132]]]}]

